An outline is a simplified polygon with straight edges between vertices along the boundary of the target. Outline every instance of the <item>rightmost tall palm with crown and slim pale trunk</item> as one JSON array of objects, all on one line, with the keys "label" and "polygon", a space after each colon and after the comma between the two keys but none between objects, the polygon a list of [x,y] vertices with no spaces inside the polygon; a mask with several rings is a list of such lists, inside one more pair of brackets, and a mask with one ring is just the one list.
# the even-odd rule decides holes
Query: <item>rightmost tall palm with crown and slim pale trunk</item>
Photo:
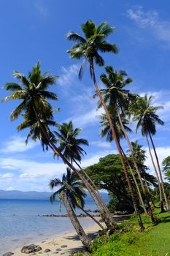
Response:
[{"label": "rightmost tall palm with crown and slim pale trunk", "polygon": [[[166,208],[169,209],[169,204],[166,198],[166,194],[165,194],[165,190],[163,187],[163,178],[162,178],[162,173],[161,173],[161,167],[159,164],[159,160],[158,160],[158,155],[157,152],[155,150],[155,144],[153,143],[152,140],[152,135],[155,135],[156,133],[156,127],[155,124],[161,124],[163,125],[163,121],[159,118],[159,116],[156,114],[157,110],[162,109],[163,107],[161,106],[157,106],[157,107],[153,107],[151,105],[153,97],[147,97],[147,94],[144,95],[144,97],[139,97],[138,99],[136,99],[136,102],[134,103],[134,106],[132,107],[132,112],[134,112],[134,121],[137,121],[136,124],[136,130],[139,129],[139,127],[141,127],[141,132],[142,135],[145,136],[145,138],[147,139],[147,144],[150,150],[150,144],[149,144],[149,140],[147,138],[147,136],[149,135],[150,137],[150,141],[152,143],[152,147],[155,153],[155,158],[156,158],[156,162],[158,165],[158,172],[159,172],[159,176],[160,176],[160,180],[161,180],[161,184],[159,185],[159,187],[162,188],[162,192],[163,192],[163,196],[166,202]],[[151,151],[150,151],[151,153]],[[151,159],[152,159],[152,154],[151,154]],[[153,159],[152,159],[153,162]],[[155,165],[154,165],[155,167]],[[156,170],[156,168],[155,168]],[[156,171],[156,175],[158,177],[158,173]],[[159,183],[159,178],[158,178],[158,183]],[[161,195],[161,193],[160,193]],[[162,204],[162,202],[161,202]]]}]

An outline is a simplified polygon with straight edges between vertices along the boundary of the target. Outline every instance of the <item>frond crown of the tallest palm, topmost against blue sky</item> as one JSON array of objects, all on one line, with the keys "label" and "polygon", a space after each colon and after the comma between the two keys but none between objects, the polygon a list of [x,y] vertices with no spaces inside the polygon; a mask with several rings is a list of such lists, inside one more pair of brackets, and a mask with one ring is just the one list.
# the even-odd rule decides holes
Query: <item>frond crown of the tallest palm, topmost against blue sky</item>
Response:
[{"label": "frond crown of the tallest palm, topmost against blue sky", "polygon": [[[82,77],[82,69],[86,60],[90,65],[95,61],[98,66],[104,66],[104,59],[98,52],[117,53],[118,51],[117,45],[109,44],[106,40],[109,34],[115,29],[109,26],[107,22],[102,22],[96,26],[92,20],[88,20],[82,24],[81,29],[85,37],[80,36],[76,32],[69,32],[66,36],[67,39],[76,42],[71,49],[67,50],[70,56],[73,59],[85,58],[80,68],[80,78]],[[92,75],[91,67],[90,74]]]}]

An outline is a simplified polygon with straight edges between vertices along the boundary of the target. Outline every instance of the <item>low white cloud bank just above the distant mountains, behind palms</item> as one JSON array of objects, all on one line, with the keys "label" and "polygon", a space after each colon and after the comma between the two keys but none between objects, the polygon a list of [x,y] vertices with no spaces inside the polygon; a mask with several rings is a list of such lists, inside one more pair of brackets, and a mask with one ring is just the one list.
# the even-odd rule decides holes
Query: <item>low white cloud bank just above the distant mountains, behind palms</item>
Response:
[{"label": "low white cloud bank just above the distant mountains, behind palms", "polygon": [[[97,151],[88,158],[83,159],[81,166],[87,167],[98,162],[98,159],[107,154],[116,154],[114,150]],[[23,191],[48,191],[51,178],[61,178],[66,172],[66,165],[58,162],[36,162],[29,159],[16,159],[12,157],[0,158],[0,170],[4,165],[10,163],[15,170],[9,173],[0,174],[1,189],[16,189]],[[5,182],[4,182],[5,180]]]}]

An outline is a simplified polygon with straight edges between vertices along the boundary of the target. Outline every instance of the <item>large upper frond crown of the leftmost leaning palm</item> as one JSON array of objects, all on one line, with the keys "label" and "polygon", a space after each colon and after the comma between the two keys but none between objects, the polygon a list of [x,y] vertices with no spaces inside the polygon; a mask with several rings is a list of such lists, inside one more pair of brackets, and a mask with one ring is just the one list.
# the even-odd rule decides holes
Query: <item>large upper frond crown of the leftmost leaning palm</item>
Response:
[{"label": "large upper frond crown of the leftmost leaning palm", "polygon": [[11,113],[11,120],[15,120],[24,113],[35,118],[35,112],[39,115],[39,118],[53,118],[53,110],[47,99],[57,100],[58,97],[55,93],[47,91],[49,86],[55,84],[56,76],[47,75],[48,72],[42,74],[41,66],[38,62],[33,67],[31,72],[28,72],[28,77],[22,73],[15,71],[13,76],[18,78],[18,83],[7,83],[4,86],[7,91],[12,91],[12,94],[4,98],[4,101],[8,99],[20,99],[22,102]]}]

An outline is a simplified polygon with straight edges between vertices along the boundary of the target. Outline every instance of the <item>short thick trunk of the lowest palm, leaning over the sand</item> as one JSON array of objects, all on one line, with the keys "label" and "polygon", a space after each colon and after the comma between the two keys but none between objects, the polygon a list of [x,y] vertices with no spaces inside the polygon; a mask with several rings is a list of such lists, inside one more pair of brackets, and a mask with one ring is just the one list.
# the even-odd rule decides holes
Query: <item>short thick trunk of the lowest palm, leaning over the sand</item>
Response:
[{"label": "short thick trunk of the lowest palm, leaning over the sand", "polygon": [[63,200],[64,206],[66,208],[66,211],[68,213],[68,216],[72,222],[72,225],[74,226],[74,228],[77,232],[77,235],[80,237],[82,244],[88,250],[90,250],[91,241],[88,238],[88,236],[85,234],[85,231],[83,230],[82,226],[80,225],[80,222],[77,219],[76,214],[74,213],[73,208],[72,208],[71,204],[69,203],[69,200],[68,200],[65,192],[63,192],[62,200]]}]

